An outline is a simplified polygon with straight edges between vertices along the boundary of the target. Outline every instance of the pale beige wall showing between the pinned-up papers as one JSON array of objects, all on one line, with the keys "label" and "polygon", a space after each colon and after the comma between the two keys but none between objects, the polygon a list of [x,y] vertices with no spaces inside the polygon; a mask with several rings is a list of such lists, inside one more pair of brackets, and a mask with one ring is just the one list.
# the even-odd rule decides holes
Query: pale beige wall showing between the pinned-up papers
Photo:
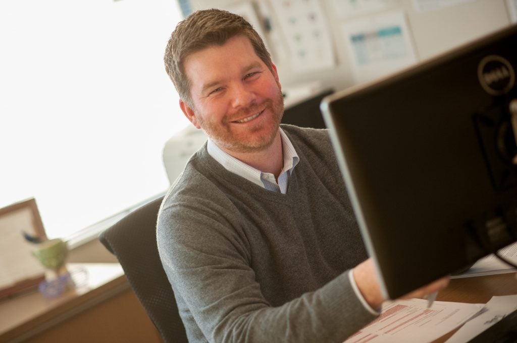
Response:
[{"label": "pale beige wall showing between the pinned-up papers", "polygon": [[[277,0],[254,0],[266,2]],[[343,0],[345,1],[345,0]],[[275,60],[283,86],[321,80],[324,86],[340,90],[354,84],[350,61],[347,57],[344,37],[340,25],[342,21],[334,13],[331,0],[320,0],[334,44],[337,67],[317,73],[300,74],[292,70],[288,60]],[[240,0],[193,0],[193,10],[204,8],[227,8],[242,3]],[[491,31],[510,24],[510,14],[505,0],[472,0],[458,5],[432,11],[418,12],[413,0],[400,0],[398,5],[385,11],[403,10],[418,60],[445,52]],[[380,12],[383,13],[383,12]],[[379,12],[372,12],[373,15]],[[364,17],[364,15],[363,15]],[[359,19],[361,17],[354,17]]]}]

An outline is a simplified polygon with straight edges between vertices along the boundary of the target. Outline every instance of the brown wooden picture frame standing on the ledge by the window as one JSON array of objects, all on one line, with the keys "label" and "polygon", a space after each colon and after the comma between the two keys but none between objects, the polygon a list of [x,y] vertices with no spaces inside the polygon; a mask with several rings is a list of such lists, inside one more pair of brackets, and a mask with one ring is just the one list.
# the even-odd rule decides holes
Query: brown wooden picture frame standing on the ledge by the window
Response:
[{"label": "brown wooden picture frame standing on the ledge by the window", "polygon": [[35,245],[25,235],[47,239],[34,198],[0,208],[0,299],[44,280],[44,268],[32,255]]}]

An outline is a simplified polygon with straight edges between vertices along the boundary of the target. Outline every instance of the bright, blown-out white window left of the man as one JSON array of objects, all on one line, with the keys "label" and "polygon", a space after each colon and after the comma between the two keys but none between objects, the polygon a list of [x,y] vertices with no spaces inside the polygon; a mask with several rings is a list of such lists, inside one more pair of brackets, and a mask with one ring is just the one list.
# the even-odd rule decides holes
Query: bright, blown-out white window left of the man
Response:
[{"label": "bright, blown-out white window left of the man", "polygon": [[0,207],[34,197],[67,238],[166,191],[179,20],[173,0],[0,2]]}]

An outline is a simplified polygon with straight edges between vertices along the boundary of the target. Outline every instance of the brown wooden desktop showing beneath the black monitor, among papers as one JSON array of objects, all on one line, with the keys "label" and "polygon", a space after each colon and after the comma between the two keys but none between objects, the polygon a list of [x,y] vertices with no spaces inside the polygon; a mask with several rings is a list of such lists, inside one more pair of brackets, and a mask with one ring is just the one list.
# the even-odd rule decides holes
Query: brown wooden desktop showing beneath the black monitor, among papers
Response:
[{"label": "brown wooden desktop showing beneath the black monitor, among papers", "polygon": [[[446,289],[438,293],[436,300],[485,304],[493,296],[514,294],[517,294],[517,273],[509,273],[453,279]],[[445,342],[455,331],[440,337],[435,343]]]}]

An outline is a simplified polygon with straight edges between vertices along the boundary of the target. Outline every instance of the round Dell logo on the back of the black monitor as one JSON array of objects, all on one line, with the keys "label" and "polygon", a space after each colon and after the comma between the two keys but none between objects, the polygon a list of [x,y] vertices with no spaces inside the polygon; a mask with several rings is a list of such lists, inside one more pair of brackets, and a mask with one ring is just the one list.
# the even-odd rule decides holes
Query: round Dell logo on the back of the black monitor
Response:
[{"label": "round Dell logo on the back of the black monitor", "polygon": [[479,83],[491,95],[503,95],[515,84],[515,72],[508,60],[501,56],[486,56],[479,62]]}]

